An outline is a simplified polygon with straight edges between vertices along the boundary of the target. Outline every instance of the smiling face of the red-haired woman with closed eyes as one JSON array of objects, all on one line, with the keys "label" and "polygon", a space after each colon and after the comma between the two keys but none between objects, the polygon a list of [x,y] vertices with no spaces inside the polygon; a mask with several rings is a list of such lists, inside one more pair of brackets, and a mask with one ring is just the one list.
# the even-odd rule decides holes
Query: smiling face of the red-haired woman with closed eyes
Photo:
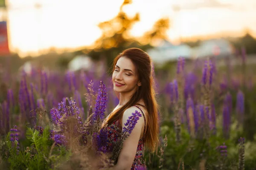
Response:
[{"label": "smiling face of the red-haired woman with closed eyes", "polygon": [[137,85],[141,83],[137,79],[135,65],[131,59],[121,57],[115,65],[112,75],[113,89],[118,93],[133,93],[137,90]]}]

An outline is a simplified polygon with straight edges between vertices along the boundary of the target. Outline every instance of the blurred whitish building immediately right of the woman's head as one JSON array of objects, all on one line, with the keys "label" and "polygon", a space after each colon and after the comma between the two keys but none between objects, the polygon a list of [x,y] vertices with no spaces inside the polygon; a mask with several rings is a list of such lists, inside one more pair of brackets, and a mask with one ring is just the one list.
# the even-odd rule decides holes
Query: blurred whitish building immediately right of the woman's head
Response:
[{"label": "blurred whitish building immediately right of the woman's head", "polygon": [[190,58],[192,49],[186,44],[173,45],[169,41],[164,41],[160,46],[149,49],[147,53],[154,62],[162,64],[176,60],[180,56]]}]

